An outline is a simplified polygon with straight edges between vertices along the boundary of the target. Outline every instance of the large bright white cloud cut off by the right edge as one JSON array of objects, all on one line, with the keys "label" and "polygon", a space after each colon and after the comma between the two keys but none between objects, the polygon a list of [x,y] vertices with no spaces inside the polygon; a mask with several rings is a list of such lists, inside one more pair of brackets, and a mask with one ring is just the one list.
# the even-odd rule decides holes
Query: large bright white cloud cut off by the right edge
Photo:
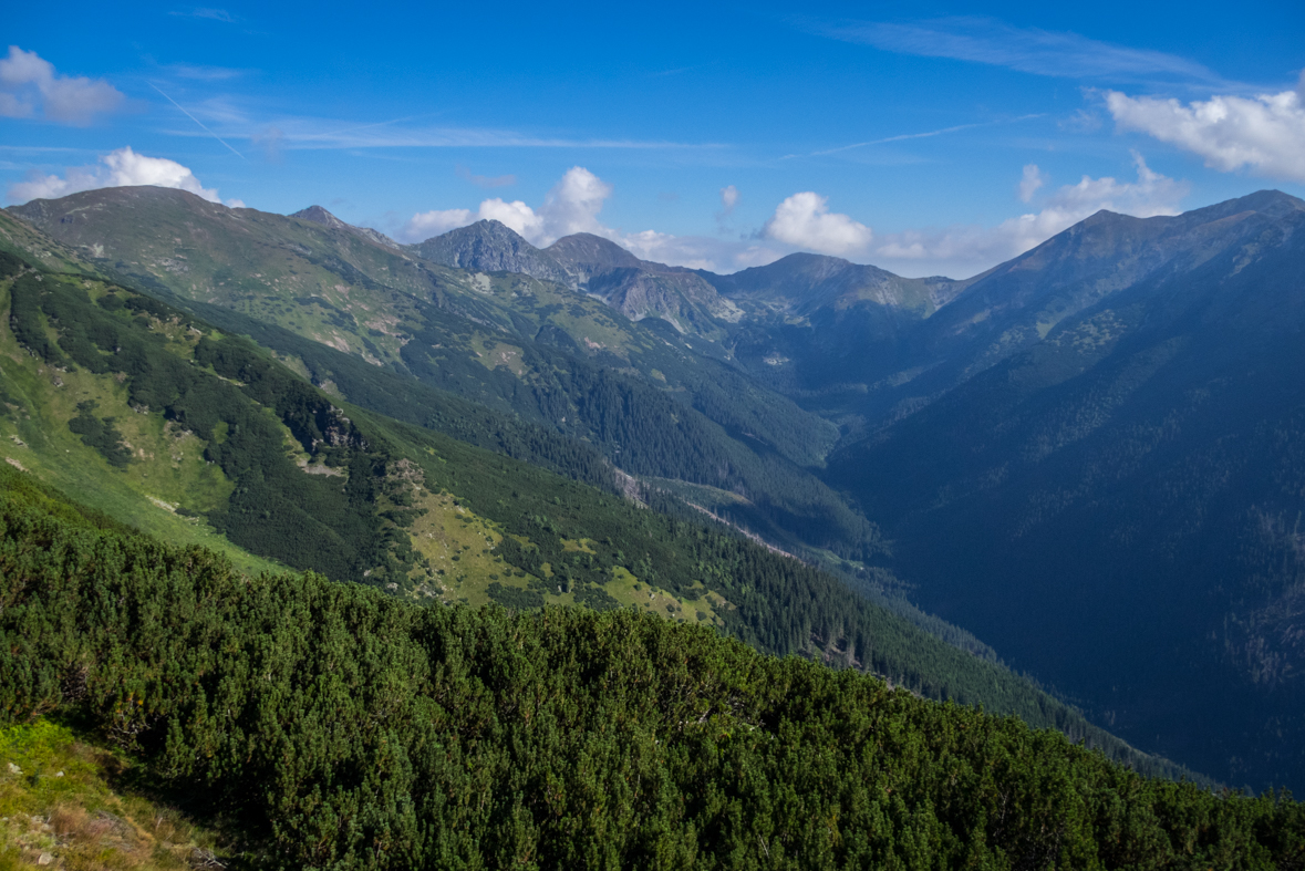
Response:
[{"label": "large bright white cloud cut off by the right edge", "polygon": [[1120,129],[1139,130],[1177,145],[1231,172],[1305,181],[1305,96],[1280,94],[1211,96],[1186,106],[1176,99],[1133,98],[1107,91],[1105,104]]}]

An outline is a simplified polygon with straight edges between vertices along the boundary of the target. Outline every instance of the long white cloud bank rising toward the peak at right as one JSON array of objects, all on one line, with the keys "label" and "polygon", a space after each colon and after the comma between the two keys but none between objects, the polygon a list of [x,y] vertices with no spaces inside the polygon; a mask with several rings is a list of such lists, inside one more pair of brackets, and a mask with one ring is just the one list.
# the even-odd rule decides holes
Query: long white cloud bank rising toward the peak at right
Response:
[{"label": "long white cloud bank rising toward the peak at right", "polygon": [[1133,159],[1137,181],[1083,176],[1078,184],[1061,186],[1040,211],[1010,218],[996,227],[891,233],[885,236],[874,254],[885,261],[899,261],[895,269],[914,274],[920,274],[920,270],[910,269],[912,261],[928,265],[925,271],[934,274],[947,269],[963,270],[959,276],[966,274],[964,270],[976,274],[1023,254],[1101,209],[1135,218],[1178,214],[1178,203],[1188,196],[1188,183],[1152,171],[1135,151]]}]

